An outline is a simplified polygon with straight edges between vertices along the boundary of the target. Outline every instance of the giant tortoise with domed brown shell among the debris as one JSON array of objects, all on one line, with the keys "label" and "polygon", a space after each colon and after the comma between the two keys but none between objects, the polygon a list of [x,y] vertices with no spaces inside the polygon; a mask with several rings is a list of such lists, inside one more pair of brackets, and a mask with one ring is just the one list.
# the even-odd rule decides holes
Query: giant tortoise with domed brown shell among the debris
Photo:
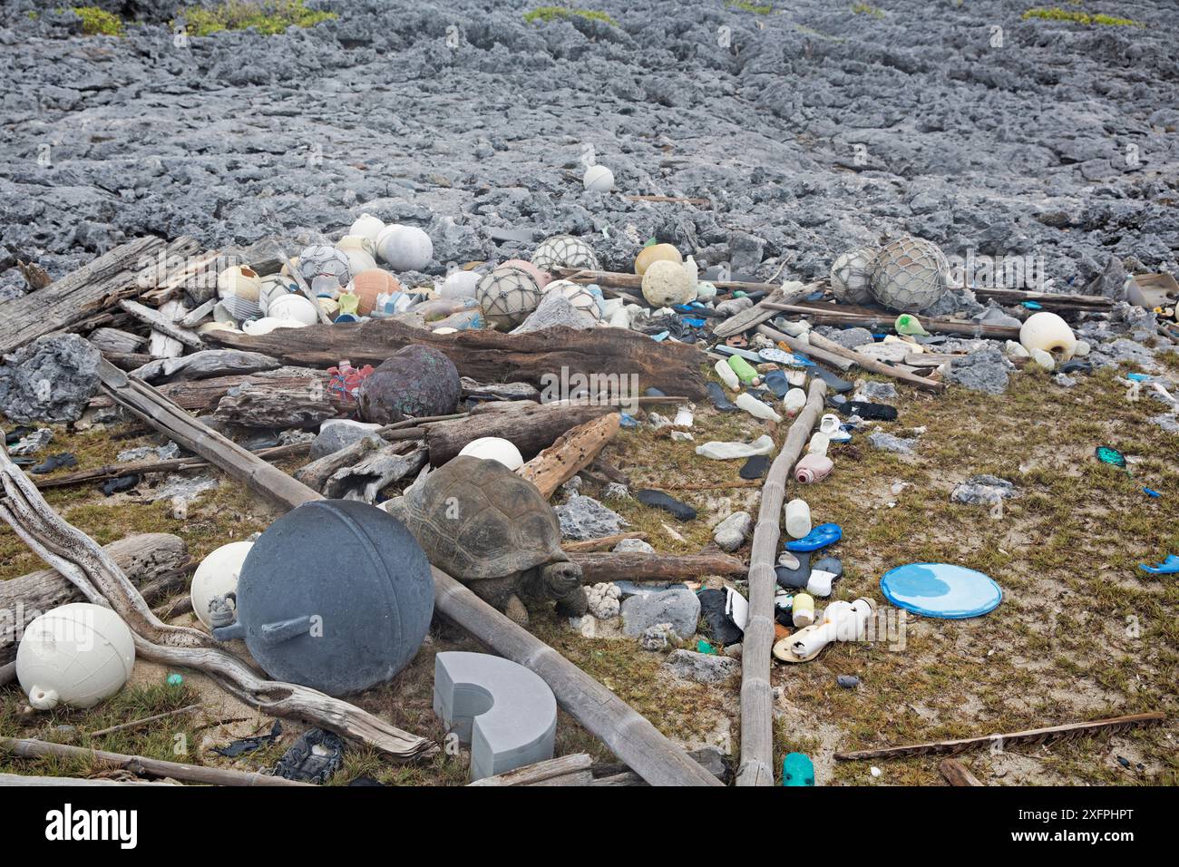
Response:
[{"label": "giant tortoise with domed brown shell among the debris", "polygon": [[520,596],[555,599],[558,612],[586,612],[581,567],[561,551],[556,514],[527,479],[496,460],[460,455],[426,477],[395,514],[426,557],[516,623]]}]

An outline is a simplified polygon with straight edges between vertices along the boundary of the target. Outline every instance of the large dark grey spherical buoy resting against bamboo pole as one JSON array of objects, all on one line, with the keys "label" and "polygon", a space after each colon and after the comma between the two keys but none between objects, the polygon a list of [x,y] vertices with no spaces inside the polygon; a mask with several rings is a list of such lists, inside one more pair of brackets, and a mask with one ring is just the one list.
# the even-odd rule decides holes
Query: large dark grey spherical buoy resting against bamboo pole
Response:
[{"label": "large dark grey spherical buoy resting against bamboo pole", "polygon": [[253,544],[237,585],[237,623],[276,681],[332,696],[383,683],[426,637],[434,579],[414,537],[389,513],[351,500],[307,503]]}]

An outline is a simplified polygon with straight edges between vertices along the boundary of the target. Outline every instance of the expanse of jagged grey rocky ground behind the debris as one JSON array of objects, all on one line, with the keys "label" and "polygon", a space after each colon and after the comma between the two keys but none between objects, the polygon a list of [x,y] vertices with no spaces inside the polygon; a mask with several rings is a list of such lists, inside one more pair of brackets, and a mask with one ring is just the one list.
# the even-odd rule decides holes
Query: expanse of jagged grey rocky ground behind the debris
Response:
[{"label": "expanse of jagged grey rocky ground behind the debris", "polygon": [[[587,2],[617,27],[312,0],[338,20],[187,40],[176,2],[99,5],[143,24],[84,37],[55,2],[0,9],[0,297],[25,289],[18,258],[60,277],[145,234],[311,239],[362,211],[426,228],[434,272],[534,245],[494,230],[593,232],[627,270],[658,236],[814,278],[904,232],[1041,257],[1068,291],[1112,260],[1179,270],[1174,0],[1085,5],[1145,27],[1021,20],[1029,0]],[[584,191],[587,158],[612,193]]]}]

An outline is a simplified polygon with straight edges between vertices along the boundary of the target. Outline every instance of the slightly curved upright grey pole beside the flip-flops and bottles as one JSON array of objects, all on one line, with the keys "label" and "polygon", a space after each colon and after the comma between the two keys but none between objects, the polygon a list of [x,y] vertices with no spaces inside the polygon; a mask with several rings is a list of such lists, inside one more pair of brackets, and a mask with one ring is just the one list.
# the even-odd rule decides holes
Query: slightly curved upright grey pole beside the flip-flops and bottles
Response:
[{"label": "slightly curved upright grey pole beside the flip-flops and bottles", "polygon": [[770,689],[770,650],[773,648],[773,596],[782,537],[782,507],[786,480],[823,413],[826,383],[811,380],[806,405],[798,413],[782,451],[770,465],[762,488],[762,504],[753,527],[749,557],[749,623],[742,642],[740,766],[738,786],[773,786],[773,694]]}]

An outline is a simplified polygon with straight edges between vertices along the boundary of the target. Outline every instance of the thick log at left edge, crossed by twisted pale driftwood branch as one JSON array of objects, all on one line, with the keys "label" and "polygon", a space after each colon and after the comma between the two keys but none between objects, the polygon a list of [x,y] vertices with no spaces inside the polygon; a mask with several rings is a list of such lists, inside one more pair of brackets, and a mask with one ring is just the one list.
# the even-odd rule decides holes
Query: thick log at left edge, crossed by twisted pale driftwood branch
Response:
[{"label": "thick log at left edge, crossed by twisted pale driftwood branch", "polygon": [[[147,587],[180,569],[189,559],[184,539],[171,533],[129,536],[103,549],[149,602],[160,597]],[[70,602],[86,602],[83,592],[57,570],[42,569],[0,582],[0,664],[17,658],[19,633],[39,615]]]}]

